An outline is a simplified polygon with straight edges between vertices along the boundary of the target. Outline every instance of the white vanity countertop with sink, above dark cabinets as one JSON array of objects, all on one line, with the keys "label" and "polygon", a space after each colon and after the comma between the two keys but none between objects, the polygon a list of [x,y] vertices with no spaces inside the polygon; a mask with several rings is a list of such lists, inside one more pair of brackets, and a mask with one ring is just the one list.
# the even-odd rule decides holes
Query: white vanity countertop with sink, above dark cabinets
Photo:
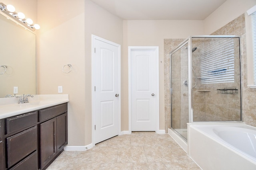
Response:
[{"label": "white vanity countertop with sink, above dark cabinets", "polygon": [[0,98],[0,119],[69,102],[68,94],[34,95],[28,103],[18,104],[18,98]]}]

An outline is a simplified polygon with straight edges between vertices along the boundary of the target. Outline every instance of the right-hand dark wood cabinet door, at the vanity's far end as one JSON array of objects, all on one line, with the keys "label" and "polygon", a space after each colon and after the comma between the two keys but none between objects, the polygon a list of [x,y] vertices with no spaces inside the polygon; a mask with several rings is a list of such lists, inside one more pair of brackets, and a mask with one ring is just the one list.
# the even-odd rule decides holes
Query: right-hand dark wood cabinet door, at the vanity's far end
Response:
[{"label": "right-hand dark wood cabinet door, at the vanity's far end", "polygon": [[68,144],[68,113],[56,117],[57,153]]}]

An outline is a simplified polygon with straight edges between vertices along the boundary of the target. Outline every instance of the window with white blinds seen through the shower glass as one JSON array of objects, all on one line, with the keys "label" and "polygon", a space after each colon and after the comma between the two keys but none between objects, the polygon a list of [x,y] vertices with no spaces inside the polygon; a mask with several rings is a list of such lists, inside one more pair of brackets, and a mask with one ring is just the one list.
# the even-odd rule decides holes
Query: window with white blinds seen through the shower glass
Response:
[{"label": "window with white blinds seen through the shower glass", "polygon": [[234,82],[234,39],[218,38],[202,50],[201,83]]}]

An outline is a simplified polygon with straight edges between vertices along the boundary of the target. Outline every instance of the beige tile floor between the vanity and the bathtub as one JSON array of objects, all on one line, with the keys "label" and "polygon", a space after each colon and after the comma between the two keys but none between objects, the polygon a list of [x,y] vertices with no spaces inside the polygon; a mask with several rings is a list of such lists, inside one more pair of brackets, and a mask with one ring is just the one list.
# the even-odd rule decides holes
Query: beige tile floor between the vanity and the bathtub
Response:
[{"label": "beige tile floor between the vanity and the bathtub", "polygon": [[132,132],[86,151],[63,151],[47,170],[200,170],[168,134]]}]

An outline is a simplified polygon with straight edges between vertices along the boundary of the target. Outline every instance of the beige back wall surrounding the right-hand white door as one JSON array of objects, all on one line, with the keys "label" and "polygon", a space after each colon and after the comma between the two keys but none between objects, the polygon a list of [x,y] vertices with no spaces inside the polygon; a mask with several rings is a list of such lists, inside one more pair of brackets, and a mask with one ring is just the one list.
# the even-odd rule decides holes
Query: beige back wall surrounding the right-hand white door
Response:
[{"label": "beige back wall surrounding the right-hand white door", "polygon": [[159,129],[164,130],[164,39],[202,35],[203,21],[128,20],[124,21],[122,64],[122,129],[128,130],[128,46],[159,46]]}]

